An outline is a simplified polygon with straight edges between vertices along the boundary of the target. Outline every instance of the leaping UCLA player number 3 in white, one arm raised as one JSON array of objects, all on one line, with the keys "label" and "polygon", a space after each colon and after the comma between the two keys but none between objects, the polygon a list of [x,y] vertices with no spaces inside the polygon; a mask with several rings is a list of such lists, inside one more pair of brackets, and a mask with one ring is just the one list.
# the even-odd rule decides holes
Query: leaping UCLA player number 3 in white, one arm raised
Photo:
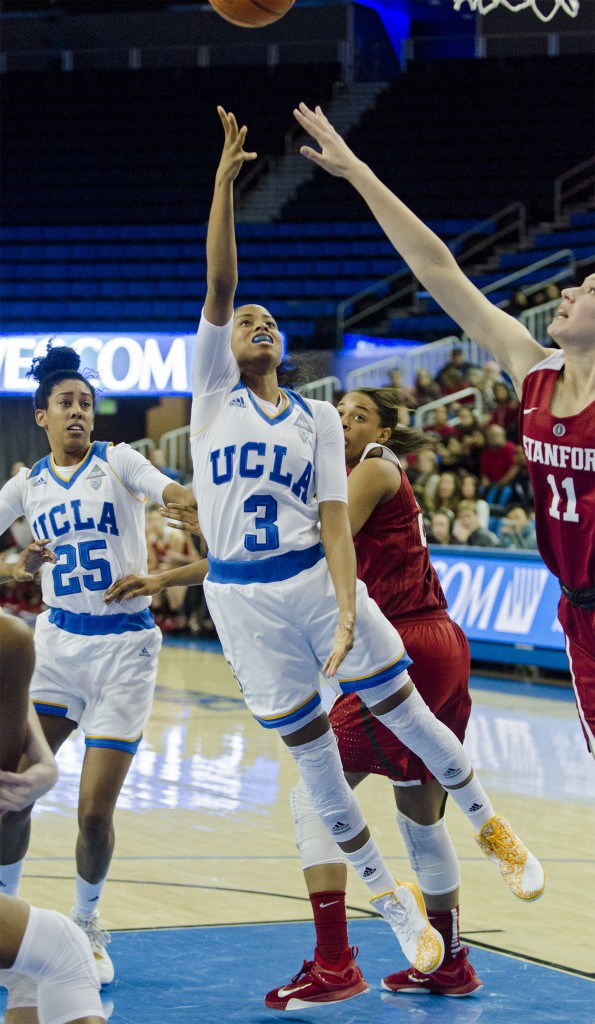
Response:
[{"label": "leaping UCLA player number 3 in white, one arm raised", "polygon": [[[341,689],[357,692],[422,758],[487,841],[494,811],[461,743],[415,690],[398,633],[356,582],[338,413],[280,387],[281,335],[265,307],[233,310],[232,186],[255,154],[244,151],[246,127],[218,113],[225,141],[207,232],[190,427],[195,495],[210,552],[209,610],[249,710],[278,730],[374,905],[411,963],[430,972],[441,962],[442,939],[420,890],[395,884],[370,837],[322,709],[321,670],[338,673]],[[517,895],[534,899],[545,876],[524,847],[521,858],[514,867],[501,861],[503,873],[506,867],[514,876],[508,881]]]}]

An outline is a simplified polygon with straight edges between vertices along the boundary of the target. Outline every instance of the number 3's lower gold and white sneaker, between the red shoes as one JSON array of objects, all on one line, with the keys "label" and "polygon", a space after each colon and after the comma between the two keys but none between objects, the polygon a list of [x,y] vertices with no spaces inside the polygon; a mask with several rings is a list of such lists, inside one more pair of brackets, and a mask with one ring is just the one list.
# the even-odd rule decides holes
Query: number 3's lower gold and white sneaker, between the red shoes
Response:
[{"label": "number 3's lower gold and white sneaker, between the red shoes", "polygon": [[388,922],[410,964],[421,974],[431,974],[444,956],[444,940],[428,921],[419,886],[397,882],[393,892],[370,900]]}]

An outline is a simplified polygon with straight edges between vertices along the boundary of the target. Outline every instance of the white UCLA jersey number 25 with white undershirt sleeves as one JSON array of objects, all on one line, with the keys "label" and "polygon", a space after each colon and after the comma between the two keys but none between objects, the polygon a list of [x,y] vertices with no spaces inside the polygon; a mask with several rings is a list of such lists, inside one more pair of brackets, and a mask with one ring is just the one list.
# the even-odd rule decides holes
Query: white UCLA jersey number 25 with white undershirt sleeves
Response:
[{"label": "white UCLA jersey number 25 with white undershirt sleeves", "polygon": [[[42,568],[45,604],[75,614],[122,613],[104,604],[112,583],[129,572],[146,572],[144,496],[162,503],[171,483],[128,444],[94,441],[69,476],[52,456],[22,469],[0,490],[0,532],[27,516],[38,540],[49,538],[55,565]],[[126,611],[146,608],[151,598],[126,602]]]}]

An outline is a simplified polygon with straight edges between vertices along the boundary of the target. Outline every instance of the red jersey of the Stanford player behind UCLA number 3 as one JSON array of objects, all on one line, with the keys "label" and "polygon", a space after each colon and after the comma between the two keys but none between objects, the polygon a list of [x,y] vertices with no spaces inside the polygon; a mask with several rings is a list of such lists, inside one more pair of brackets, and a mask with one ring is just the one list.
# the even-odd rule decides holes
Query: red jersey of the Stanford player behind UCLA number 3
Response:
[{"label": "red jersey of the Stanford player behind UCLA number 3", "polygon": [[402,470],[398,492],[376,506],[354,544],[357,575],[391,623],[447,607],[430,563],[422,510]]}]

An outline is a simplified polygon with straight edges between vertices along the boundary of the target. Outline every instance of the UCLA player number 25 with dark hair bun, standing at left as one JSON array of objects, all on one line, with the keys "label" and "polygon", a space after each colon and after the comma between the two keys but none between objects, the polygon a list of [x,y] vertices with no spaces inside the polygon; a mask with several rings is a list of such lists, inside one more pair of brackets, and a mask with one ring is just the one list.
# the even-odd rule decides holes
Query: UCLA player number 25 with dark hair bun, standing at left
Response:
[{"label": "UCLA player number 25 with dark hair bun, standing at left", "polygon": [[[97,903],[114,850],[114,810],[151,712],[161,633],[151,599],[126,611],[103,595],[123,573],[146,571],[145,497],[192,500],[127,444],[91,442],[95,389],[69,347],[35,359],[35,418],[50,455],[22,469],[0,490],[0,532],[27,516],[55,562],[42,567],[48,611],[35,629],[31,682],[43,731],[54,753],[80,726],[85,757],[73,919],[89,936],[103,984],[114,977]],[[0,891],[16,895],[29,846],[31,807],[0,818]]]}]

